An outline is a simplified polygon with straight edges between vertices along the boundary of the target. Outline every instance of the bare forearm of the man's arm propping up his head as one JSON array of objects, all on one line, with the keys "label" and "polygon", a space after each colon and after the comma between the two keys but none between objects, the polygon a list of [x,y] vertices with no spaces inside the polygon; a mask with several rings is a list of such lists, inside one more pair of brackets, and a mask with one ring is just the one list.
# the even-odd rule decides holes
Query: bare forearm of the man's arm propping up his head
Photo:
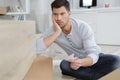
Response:
[{"label": "bare forearm of the man's arm propping up his head", "polygon": [[47,48],[55,41],[55,39],[60,35],[60,33],[60,31],[56,31],[44,39],[44,43]]}]

